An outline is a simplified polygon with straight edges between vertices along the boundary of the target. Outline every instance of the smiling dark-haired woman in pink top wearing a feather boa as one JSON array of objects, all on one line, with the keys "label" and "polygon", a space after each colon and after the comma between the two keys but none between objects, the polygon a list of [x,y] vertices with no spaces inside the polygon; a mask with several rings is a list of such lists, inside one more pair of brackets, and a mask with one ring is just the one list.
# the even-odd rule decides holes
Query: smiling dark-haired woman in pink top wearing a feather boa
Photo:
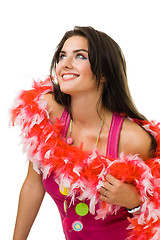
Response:
[{"label": "smiling dark-haired woman in pink top wearing a feather boa", "polygon": [[66,32],[50,77],[17,101],[12,121],[31,161],[14,240],[27,238],[46,191],[67,240],[159,239],[159,125],[134,106],[113,39],[91,27]]}]

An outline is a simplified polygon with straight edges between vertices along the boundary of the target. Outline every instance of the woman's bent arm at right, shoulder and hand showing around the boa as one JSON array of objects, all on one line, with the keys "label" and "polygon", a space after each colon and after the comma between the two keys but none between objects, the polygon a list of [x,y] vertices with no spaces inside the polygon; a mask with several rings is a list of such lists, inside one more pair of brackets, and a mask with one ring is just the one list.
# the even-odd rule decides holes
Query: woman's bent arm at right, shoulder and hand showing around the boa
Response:
[{"label": "woman's bent arm at right, shoulder and hand showing around the boa", "polygon": [[[130,120],[125,120],[121,131],[119,152],[126,156],[138,154],[144,161],[154,156],[152,138],[148,132]],[[141,204],[140,194],[132,184],[124,183],[110,174],[106,175],[103,187],[99,189],[99,198],[110,204],[128,209]]]}]

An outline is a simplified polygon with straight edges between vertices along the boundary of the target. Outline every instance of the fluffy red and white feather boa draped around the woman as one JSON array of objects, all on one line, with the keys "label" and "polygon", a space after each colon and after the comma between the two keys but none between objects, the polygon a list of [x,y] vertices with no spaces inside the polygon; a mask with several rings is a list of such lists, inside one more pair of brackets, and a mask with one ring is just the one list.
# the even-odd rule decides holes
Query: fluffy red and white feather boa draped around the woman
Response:
[{"label": "fluffy red and white feather boa draped around the woman", "polygon": [[[34,169],[46,178],[52,171],[56,173],[59,185],[70,189],[72,201],[78,191],[79,199],[90,199],[90,212],[95,214],[98,202],[97,189],[106,173],[117,179],[132,183],[141,194],[141,213],[130,218],[132,231],[128,239],[160,239],[160,123],[136,121],[149,131],[157,141],[157,151],[153,159],[142,161],[138,155],[111,159],[97,151],[85,152],[81,147],[69,146],[62,137],[62,124],[49,119],[45,93],[52,92],[52,84],[45,81],[34,82],[33,89],[22,91],[11,110],[13,125],[20,125],[24,149]],[[117,211],[118,206],[102,202],[96,219],[104,218],[108,212]]]}]

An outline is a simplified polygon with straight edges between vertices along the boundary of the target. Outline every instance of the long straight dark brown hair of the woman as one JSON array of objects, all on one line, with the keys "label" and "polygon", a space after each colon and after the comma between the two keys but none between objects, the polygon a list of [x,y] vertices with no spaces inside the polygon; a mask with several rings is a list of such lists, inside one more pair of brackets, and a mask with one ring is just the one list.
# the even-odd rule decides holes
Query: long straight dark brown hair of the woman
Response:
[{"label": "long straight dark brown hair of the woman", "polygon": [[[119,45],[107,34],[92,27],[75,27],[63,36],[53,56],[50,76],[58,63],[59,54],[65,41],[72,36],[82,36],[88,41],[88,56],[93,74],[96,76],[97,87],[101,77],[106,79],[101,101],[107,109],[124,113],[131,118],[146,120],[135,107],[128,87],[126,62]],[[54,83],[55,100],[71,111],[71,97],[60,90]]]}]

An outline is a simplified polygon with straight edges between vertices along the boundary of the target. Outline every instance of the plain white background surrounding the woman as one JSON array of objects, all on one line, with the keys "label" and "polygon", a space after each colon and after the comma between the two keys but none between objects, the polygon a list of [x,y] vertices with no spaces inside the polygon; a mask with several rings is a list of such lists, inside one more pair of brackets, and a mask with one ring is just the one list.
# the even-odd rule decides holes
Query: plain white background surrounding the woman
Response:
[{"label": "plain white background surrounding the woman", "polygon": [[[131,94],[139,111],[160,120],[160,7],[152,0],[5,0],[0,3],[0,239],[12,239],[26,157],[18,128],[9,127],[8,109],[32,77],[49,73],[64,32],[93,26],[122,48]],[[89,224],[89,223],[88,223]],[[46,195],[28,237],[63,240],[60,217]]]}]

